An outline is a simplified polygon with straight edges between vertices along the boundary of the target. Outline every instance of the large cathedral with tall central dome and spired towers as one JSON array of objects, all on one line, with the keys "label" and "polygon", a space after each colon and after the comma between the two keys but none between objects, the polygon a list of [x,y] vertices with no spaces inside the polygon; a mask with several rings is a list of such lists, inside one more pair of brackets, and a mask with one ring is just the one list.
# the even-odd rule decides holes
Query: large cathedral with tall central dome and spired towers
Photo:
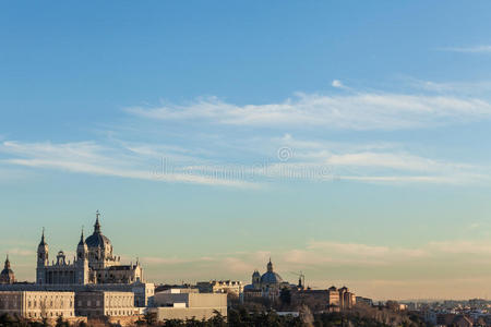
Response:
[{"label": "large cathedral with tall central dome and spired towers", "polygon": [[130,284],[143,282],[143,268],[136,264],[121,265],[112,254],[112,245],[100,230],[100,214],[96,213],[94,232],[84,239],[82,231],[73,262],[67,261],[63,251],[49,263],[49,249],[43,231],[37,247],[37,284]]}]

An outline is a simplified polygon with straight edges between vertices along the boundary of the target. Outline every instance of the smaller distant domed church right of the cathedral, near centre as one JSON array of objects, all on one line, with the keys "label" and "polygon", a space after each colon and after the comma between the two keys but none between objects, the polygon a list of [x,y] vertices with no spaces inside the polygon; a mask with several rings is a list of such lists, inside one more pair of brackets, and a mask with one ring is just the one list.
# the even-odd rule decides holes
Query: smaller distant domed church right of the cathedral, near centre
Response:
[{"label": "smaller distant domed church right of the cathedral, near centre", "polygon": [[255,270],[252,274],[252,282],[244,287],[244,299],[262,296],[274,301],[279,298],[279,293],[284,288],[291,288],[291,286],[274,271],[273,263],[270,258],[266,265],[266,272],[260,275]]}]

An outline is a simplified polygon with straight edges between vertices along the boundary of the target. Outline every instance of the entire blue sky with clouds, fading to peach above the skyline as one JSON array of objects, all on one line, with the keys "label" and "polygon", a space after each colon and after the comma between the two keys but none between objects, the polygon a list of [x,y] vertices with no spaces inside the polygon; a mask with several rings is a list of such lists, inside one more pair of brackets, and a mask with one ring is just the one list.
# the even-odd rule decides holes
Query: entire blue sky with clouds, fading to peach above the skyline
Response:
[{"label": "entire blue sky with clouds, fading to peach above the skyline", "polygon": [[148,279],[491,296],[488,1],[0,2],[0,241]]}]

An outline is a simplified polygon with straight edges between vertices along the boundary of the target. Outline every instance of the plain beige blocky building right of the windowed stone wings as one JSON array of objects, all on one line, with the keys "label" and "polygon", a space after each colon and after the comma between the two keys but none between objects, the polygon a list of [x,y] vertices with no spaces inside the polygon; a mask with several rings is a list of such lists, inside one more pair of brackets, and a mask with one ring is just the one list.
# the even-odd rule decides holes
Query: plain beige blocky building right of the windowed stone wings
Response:
[{"label": "plain beige blocky building right of the windowed stone wings", "polygon": [[227,316],[227,294],[217,293],[175,293],[159,292],[155,294],[155,307],[149,307],[149,313],[155,313],[159,322],[167,319],[209,319],[218,312]]}]

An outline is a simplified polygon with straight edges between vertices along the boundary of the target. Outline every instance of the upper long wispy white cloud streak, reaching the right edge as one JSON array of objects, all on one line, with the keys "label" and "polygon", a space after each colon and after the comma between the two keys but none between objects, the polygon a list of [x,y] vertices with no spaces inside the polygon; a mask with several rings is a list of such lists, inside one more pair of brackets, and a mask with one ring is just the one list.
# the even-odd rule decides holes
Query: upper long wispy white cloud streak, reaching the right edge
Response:
[{"label": "upper long wispy white cloud streak, reaching the right edge", "polygon": [[402,130],[489,119],[491,104],[457,96],[358,93],[297,94],[277,104],[238,106],[216,97],[188,105],[128,108],[128,112],[163,121],[203,121],[251,126],[319,126],[330,130]]}]

